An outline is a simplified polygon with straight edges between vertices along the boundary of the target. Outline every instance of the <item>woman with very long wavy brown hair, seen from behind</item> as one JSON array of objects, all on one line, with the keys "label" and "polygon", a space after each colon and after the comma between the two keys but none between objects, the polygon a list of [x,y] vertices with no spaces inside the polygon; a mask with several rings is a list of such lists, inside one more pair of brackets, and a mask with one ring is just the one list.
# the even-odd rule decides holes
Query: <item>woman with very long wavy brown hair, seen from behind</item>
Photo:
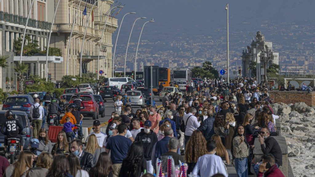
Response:
[{"label": "woman with very long wavy brown hair, seen from behind", "polygon": [[192,136],[187,142],[185,151],[185,161],[188,164],[187,174],[190,174],[195,168],[198,158],[208,152],[206,144],[207,141],[204,139],[201,131],[195,130],[192,132]]}]

